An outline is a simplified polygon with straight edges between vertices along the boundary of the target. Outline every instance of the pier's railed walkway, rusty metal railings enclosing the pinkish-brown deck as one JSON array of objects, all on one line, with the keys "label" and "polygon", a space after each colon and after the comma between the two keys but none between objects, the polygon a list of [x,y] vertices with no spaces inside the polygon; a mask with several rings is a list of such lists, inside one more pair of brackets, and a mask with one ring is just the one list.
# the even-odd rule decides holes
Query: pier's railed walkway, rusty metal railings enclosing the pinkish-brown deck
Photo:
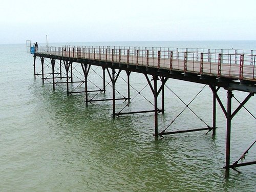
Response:
[{"label": "pier's railed walkway, rusty metal railings enclosing the pinkish-brown deck", "polygon": [[256,80],[256,50],[63,46],[38,47],[36,53]]}]

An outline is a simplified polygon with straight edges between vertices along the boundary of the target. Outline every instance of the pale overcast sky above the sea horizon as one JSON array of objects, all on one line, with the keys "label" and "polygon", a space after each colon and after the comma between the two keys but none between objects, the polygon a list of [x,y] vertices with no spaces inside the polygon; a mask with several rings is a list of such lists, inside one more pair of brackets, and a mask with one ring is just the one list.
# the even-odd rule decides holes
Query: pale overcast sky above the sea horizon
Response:
[{"label": "pale overcast sky above the sea horizon", "polygon": [[256,0],[1,0],[0,44],[256,40]]}]

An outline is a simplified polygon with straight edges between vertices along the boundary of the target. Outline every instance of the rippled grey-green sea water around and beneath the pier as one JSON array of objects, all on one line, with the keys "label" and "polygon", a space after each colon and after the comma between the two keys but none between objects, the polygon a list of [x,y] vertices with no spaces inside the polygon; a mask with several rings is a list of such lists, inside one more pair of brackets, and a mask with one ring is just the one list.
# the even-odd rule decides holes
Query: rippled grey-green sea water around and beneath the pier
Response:
[{"label": "rippled grey-green sea water around and beneath the pier", "polygon": [[[69,45],[255,49],[256,41],[73,42]],[[25,44],[0,45],[0,48],[0,191],[256,190],[255,165],[239,167],[241,174],[230,169],[230,177],[225,178],[226,119],[219,105],[215,136],[203,131],[155,139],[154,113],[113,119],[111,101],[89,103],[86,107],[84,94],[67,96],[65,84],[53,91],[48,81],[42,84],[39,76],[34,80],[33,56],[26,53]],[[40,69],[39,59],[36,67]],[[102,70],[92,66],[90,72],[93,70],[88,78],[89,89],[102,88],[99,77]],[[120,73],[116,97],[126,96],[126,78],[124,72]],[[146,84],[143,74],[131,73],[132,102],[123,112],[154,109],[153,94]],[[74,83],[70,89],[76,87]],[[233,93],[240,102],[248,95]],[[226,106],[226,90],[221,88],[218,94]],[[89,93],[89,98],[95,99],[111,96],[110,84],[105,94]],[[193,100],[189,108],[203,121],[180,99],[185,104]],[[232,110],[239,105],[236,99]],[[116,111],[126,104],[127,101],[116,101]],[[255,116],[255,97],[245,108]],[[232,119],[230,163],[238,160],[256,138],[255,117],[245,108]],[[211,90],[202,84],[169,79],[165,87],[165,113],[160,113],[158,119],[159,132],[169,124],[166,131],[212,126]],[[244,162],[255,158],[256,146],[253,146]]]}]

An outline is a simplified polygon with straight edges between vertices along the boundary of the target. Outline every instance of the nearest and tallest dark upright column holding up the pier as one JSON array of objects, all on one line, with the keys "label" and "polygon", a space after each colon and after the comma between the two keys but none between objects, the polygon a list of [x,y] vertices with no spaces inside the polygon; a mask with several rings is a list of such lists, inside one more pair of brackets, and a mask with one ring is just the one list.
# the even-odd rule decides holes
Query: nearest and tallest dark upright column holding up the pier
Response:
[{"label": "nearest and tallest dark upright column holding up the pier", "polygon": [[229,164],[230,164],[230,138],[231,138],[231,99],[232,91],[227,91],[227,133],[226,133],[226,173],[225,176],[229,177]]}]

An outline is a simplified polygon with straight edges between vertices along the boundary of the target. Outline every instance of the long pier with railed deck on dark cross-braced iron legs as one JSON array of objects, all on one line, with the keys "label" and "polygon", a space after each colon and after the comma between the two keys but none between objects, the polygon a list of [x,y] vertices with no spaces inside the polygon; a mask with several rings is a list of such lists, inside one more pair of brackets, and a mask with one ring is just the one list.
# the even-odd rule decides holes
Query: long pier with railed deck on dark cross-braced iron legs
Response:
[{"label": "long pier with railed deck on dark cross-braced iron legs", "polygon": [[[53,85],[53,90],[58,83],[64,83],[67,87],[67,95],[75,93],[85,94],[85,104],[98,101],[112,101],[113,118],[121,115],[154,113],[154,136],[156,138],[170,134],[181,134],[187,132],[207,131],[216,134],[216,105],[220,105],[226,118],[226,176],[229,169],[236,169],[239,166],[256,164],[256,161],[247,163],[230,164],[230,140],[231,120],[243,108],[245,103],[256,93],[256,71],[255,58],[256,50],[217,50],[217,49],[188,49],[188,48],[145,48],[145,47],[32,47],[31,54],[34,58],[34,78],[40,77],[42,83],[47,80]],[[39,67],[36,60],[39,59]],[[48,63],[46,63],[46,60]],[[46,69],[46,66],[48,69]],[[102,69],[102,87],[97,90],[88,90],[88,75],[91,67],[97,66]],[[78,69],[79,68],[79,69]],[[75,80],[74,71],[80,70],[82,79]],[[116,82],[122,71],[125,71],[127,79],[127,95],[121,98],[116,97]],[[154,96],[154,109],[139,110],[134,112],[116,112],[115,103],[117,100],[126,102],[126,106],[132,102],[130,95],[130,74],[144,74]],[[109,75],[112,86],[112,98],[94,99],[89,98],[90,92],[104,93],[106,90],[106,75]],[[63,81],[59,81],[63,79]],[[168,132],[167,128],[159,131],[158,114],[164,113],[164,90],[168,79],[178,79],[188,82],[204,84],[212,91],[212,125],[206,127],[194,127],[190,130]],[[84,84],[83,91],[70,90],[70,83]],[[225,89],[227,92],[227,106],[224,106],[218,91]],[[232,110],[233,91],[246,92],[237,109]],[[140,92],[138,91],[138,94]],[[161,94],[160,94],[161,93]],[[160,97],[161,95],[161,97]],[[159,105],[161,99],[161,105]],[[186,108],[189,108],[186,104]],[[254,116],[253,116],[254,117]],[[255,117],[254,117],[255,120]],[[170,122],[172,124],[172,122]],[[254,142],[255,143],[255,142]]]}]

